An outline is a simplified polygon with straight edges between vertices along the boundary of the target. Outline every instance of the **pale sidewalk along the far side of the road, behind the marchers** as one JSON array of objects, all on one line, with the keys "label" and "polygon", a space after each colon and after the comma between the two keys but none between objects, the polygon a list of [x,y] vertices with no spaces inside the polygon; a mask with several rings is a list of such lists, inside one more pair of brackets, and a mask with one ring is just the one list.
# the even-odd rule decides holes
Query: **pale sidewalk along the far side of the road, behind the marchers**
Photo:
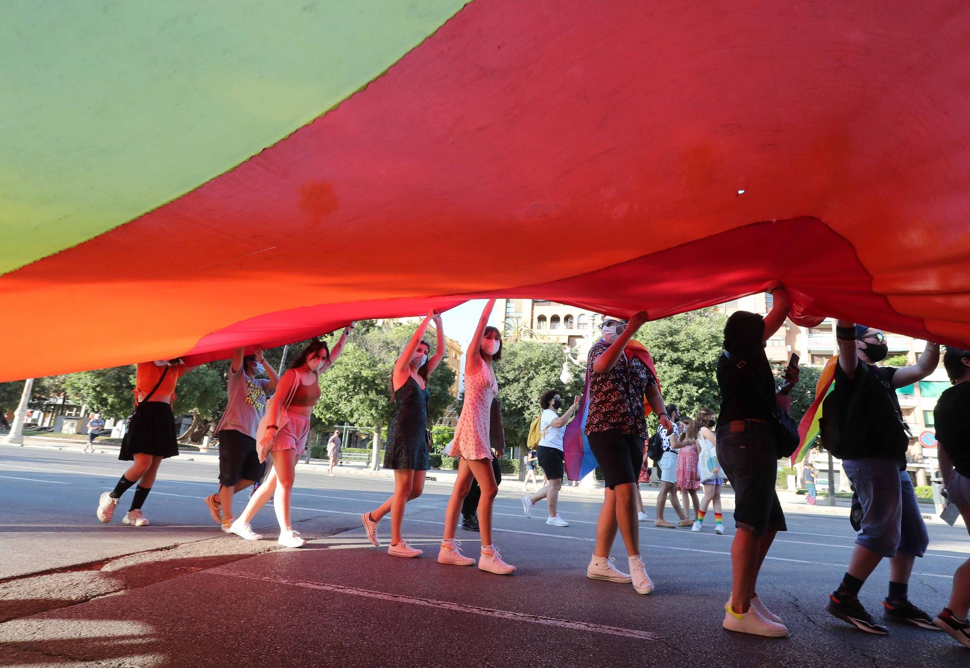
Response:
[{"label": "pale sidewalk along the far side of the road, behind the marchers", "polygon": [[[46,449],[56,449],[56,450],[67,450],[67,451],[77,451],[81,452],[86,442],[73,442],[65,439],[57,438],[44,438],[29,436],[24,441],[24,447],[33,448],[46,448]],[[95,442],[96,451],[104,454],[114,454],[119,449],[120,446],[115,444],[106,443],[98,444]],[[176,457],[172,457],[174,461],[195,461],[203,464],[208,464],[210,466],[218,466],[219,464],[219,451],[218,450],[205,450],[199,449],[195,446],[179,446],[180,453]],[[309,473],[318,476],[327,476],[327,470],[330,464],[328,461],[323,459],[311,459],[307,463],[303,458],[297,464],[297,471]],[[378,471],[372,471],[370,466],[364,463],[353,463],[353,464],[340,464],[335,469],[335,475],[339,476],[364,476],[369,478],[383,478],[387,480],[394,479],[394,471],[389,469],[380,469]],[[427,480],[429,482],[437,484],[455,484],[455,480],[458,476],[457,471],[444,470],[444,469],[431,469],[427,473]],[[214,476],[213,476],[214,480]],[[502,485],[500,491],[504,492],[516,492],[525,494],[527,492],[520,491],[522,489],[522,484],[519,482],[519,477],[515,474],[504,474],[501,477]],[[646,488],[641,488],[640,494],[643,498],[643,505],[645,508],[650,509],[656,506],[657,496],[660,492],[660,488],[657,486],[649,486]],[[809,506],[805,503],[805,496],[796,494],[795,492],[788,491],[785,489],[778,489],[778,499],[781,501],[782,508],[786,511],[792,513],[801,514],[814,514],[814,515],[825,515],[825,516],[835,516],[848,518],[849,512],[852,507],[852,502],[850,499],[835,499],[835,505],[829,506],[828,499],[824,496],[820,496],[818,500],[818,505]],[[588,497],[590,501],[598,501],[602,498],[603,488],[602,487],[573,487],[572,485],[564,485],[560,491],[560,494],[566,497]],[[722,503],[726,510],[734,509],[734,490],[731,489],[729,485],[725,485],[721,492]],[[669,503],[667,504],[669,506]],[[945,524],[942,519],[939,518],[939,513],[936,508],[931,504],[921,504],[922,517],[927,522],[932,522],[934,524]],[[669,511],[672,513],[672,510]],[[959,522],[957,522],[959,523]]]}]

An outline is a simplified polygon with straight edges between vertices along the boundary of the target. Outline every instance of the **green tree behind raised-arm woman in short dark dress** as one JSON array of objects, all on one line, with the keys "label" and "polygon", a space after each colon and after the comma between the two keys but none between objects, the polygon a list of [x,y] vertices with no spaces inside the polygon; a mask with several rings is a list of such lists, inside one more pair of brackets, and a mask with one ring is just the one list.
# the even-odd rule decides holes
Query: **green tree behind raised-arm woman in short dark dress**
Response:
[{"label": "green tree behind raised-arm woman in short dark dress", "polygon": [[[385,323],[355,329],[339,360],[320,378],[313,414],[329,424],[386,425],[394,415],[390,398],[394,363],[414,334],[415,324]],[[435,339],[427,337],[434,354]],[[454,400],[455,372],[443,362],[429,379],[428,420],[433,423]]]}]

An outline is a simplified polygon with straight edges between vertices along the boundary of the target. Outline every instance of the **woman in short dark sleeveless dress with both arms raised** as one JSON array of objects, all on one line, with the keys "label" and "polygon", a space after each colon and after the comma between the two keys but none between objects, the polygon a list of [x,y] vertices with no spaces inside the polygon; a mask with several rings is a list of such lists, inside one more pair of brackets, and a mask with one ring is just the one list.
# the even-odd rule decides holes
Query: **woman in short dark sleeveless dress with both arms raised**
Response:
[{"label": "woman in short dark sleeveless dress with both arms raised", "polygon": [[[431,346],[422,341],[429,323],[435,320],[437,348],[428,358]],[[444,330],[441,314],[432,311],[414,332],[407,348],[398,357],[391,379],[391,398],[398,405],[391,426],[387,430],[384,449],[384,468],[394,469],[394,495],[380,508],[361,516],[367,537],[379,547],[377,524],[391,514],[391,546],[388,554],[394,556],[419,556],[420,550],[411,548],[401,537],[404,504],[421,496],[424,491],[425,472],[431,468],[428,451],[428,377],[444,358]]]}]

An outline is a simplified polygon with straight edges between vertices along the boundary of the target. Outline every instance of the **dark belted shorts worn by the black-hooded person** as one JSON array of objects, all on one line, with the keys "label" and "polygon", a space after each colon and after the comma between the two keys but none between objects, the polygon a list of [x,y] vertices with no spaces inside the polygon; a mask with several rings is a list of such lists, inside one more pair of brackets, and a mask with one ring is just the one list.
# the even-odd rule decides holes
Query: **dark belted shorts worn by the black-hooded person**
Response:
[{"label": "dark belted shorts worn by the black-hooded person", "polygon": [[769,530],[787,531],[785,513],[775,492],[778,452],[771,426],[735,420],[718,428],[717,440],[718,462],[734,488],[735,526],[756,536]]}]

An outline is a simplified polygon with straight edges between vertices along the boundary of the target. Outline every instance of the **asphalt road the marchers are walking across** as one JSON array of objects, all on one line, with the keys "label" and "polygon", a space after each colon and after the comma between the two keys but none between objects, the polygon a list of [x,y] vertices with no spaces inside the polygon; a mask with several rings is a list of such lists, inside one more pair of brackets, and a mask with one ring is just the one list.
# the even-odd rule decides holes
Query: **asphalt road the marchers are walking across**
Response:
[{"label": "asphalt road the marchers are walking across", "polygon": [[[715,666],[967,665],[970,651],[942,632],[891,627],[887,637],[854,630],[824,612],[845,570],[854,534],[846,518],[787,511],[762,570],[760,596],[785,619],[786,639],[721,628],[730,583],[727,534],[705,526],[641,523],[642,553],[657,585],[588,580],[598,500],[567,493],[566,528],[547,526],[542,505],[523,517],[518,484],[504,482],[495,541],[518,567],[501,577],[435,561],[450,485],[429,483],[408,504],[404,535],[425,555],[373,548],[361,513],[390,493],[388,480],[298,473],[303,550],[275,540],[242,541],[211,522],[202,499],[214,490],[209,462],[170,460],[146,503],[152,525],[94,518],[97,497],[124,464],[109,454],[0,448],[0,665],[18,666]],[[130,495],[130,492],[129,492]],[[244,497],[239,497],[242,508]],[[653,518],[649,507],[648,515]],[[668,518],[672,513],[668,510]],[[272,507],[254,525],[275,536]],[[390,527],[381,524],[385,544]],[[911,598],[941,608],[953,573],[970,553],[962,526],[931,524]],[[459,530],[467,553],[477,534]],[[625,566],[622,543],[614,553]],[[881,565],[861,599],[877,612]]]}]

